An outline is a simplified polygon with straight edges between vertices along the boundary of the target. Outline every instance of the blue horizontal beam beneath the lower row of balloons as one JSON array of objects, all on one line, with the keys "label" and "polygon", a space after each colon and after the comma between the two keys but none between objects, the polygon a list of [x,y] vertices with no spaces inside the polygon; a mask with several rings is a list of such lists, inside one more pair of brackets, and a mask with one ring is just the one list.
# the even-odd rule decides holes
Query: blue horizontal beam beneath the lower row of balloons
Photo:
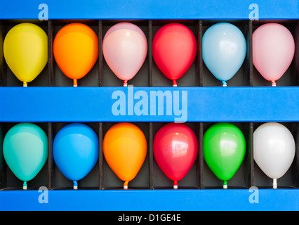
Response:
[{"label": "blue horizontal beam beneath the lower row of balloons", "polygon": [[299,190],[0,191],[0,210],[298,211]]}]

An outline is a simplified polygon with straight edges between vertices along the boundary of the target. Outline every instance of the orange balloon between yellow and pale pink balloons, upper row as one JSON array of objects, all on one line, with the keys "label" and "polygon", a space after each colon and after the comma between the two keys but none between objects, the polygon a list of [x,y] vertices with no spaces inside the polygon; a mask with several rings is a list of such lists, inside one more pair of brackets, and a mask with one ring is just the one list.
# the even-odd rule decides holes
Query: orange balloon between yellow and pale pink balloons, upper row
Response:
[{"label": "orange balloon between yellow and pale pink balloons, upper row", "polygon": [[53,54],[60,70],[77,86],[98,59],[98,36],[83,23],[62,27],[53,42]]}]

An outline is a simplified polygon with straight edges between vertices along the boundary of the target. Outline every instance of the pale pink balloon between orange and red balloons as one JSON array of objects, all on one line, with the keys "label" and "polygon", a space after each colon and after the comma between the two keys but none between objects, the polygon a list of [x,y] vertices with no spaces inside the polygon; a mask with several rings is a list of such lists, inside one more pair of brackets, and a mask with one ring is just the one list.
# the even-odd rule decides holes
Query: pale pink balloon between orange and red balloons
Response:
[{"label": "pale pink balloon between orange and red balloons", "polygon": [[102,51],[109,68],[127,86],[145,61],[147,39],[138,26],[117,23],[105,34]]}]

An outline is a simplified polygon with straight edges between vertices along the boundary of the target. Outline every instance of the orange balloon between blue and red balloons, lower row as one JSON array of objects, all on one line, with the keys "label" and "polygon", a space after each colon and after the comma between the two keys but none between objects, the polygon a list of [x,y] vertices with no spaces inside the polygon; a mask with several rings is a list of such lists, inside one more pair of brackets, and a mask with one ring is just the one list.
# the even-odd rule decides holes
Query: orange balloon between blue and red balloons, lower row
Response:
[{"label": "orange balloon between blue and red balloons, lower row", "polygon": [[135,124],[115,124],[105,134],[102,147],[109,167],[125,181],[127,189],[128,181],[135,178],[147,156],[145,134]]}]

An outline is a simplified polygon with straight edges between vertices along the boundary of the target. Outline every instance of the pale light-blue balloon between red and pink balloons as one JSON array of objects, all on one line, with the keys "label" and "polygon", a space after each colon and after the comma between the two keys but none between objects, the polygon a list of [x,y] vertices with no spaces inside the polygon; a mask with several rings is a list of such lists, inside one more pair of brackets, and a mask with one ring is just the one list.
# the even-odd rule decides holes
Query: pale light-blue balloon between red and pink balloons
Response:
[{"label": "pale light-blue balloon between red and pink balloons", "polygon": [[241,68],[246,56],[246,40],[231,23],[216,23],[202,37],[202,57],[208,70],[226,86]]}]

